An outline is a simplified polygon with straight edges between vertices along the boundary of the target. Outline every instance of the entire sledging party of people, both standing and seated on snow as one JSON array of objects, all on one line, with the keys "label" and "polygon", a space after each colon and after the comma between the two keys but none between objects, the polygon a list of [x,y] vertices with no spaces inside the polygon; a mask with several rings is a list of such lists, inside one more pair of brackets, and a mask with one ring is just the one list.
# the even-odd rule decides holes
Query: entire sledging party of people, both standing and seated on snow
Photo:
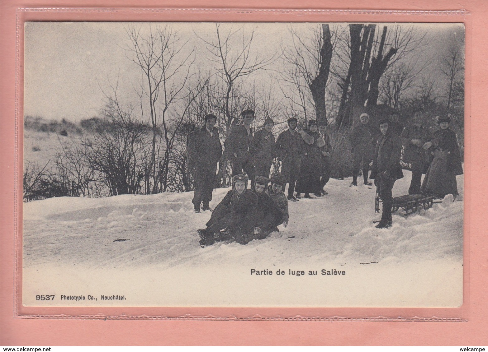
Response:
[{"label": "entire sledging party of people, both standing and seated on snow", "polygon": [[[202,247],[229,238],[241,244],[265,238],[278,231],[278,225],[286,226],[288,200],[327,194],[324,188],[330,177],[332,150],[325,121],[309,120],[302,129],[296,118],[289,118],[288,129],[275,140],[271,118],[266,118],[263,128],[253,135],[254,112],[244,110],[241,115],[243,123],[231,127],[224,153],[214,127],[217,117],[212,114],[204,117],[205,125],[187,142],[188,156],[195,166],[195,213],[211,210],[217,164],[222,165],[225,158],[232,167],[232,190],[215,208],[207,227],[198,230]],[[382,119],[372,125],[368,114],[363,113],[350,135],[354,159],[349,186],[358,185],[360,170],[365,185],[372,185],[368,179],[374,180],[383,201],[378,228],[392,224],[392,189],[395,181],[403,177],[402,168],[412,171],[408,194],[458,195],[456,175],[463,170],[449,118],[438,118],[440,128],[434,133],[424,126],[422,111],[416,111],[413,119],[413,125],[404,128],[399,114],[394,113],[390,120]],[[274,158],[281,161],[281,174],[270,177]],[[421,184],[423,174],[426,177]]]}]

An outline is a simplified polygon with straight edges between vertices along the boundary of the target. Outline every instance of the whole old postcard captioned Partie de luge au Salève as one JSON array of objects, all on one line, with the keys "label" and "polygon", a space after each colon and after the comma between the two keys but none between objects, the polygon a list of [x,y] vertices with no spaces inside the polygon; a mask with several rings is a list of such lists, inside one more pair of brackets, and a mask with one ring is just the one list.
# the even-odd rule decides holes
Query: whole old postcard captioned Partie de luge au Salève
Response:
[{"label": "whole old postcard captioned Partie de luge au Sal\u00e8ve", "polygon": [[463,23],[25,22],[22,304],[459,307]]}]

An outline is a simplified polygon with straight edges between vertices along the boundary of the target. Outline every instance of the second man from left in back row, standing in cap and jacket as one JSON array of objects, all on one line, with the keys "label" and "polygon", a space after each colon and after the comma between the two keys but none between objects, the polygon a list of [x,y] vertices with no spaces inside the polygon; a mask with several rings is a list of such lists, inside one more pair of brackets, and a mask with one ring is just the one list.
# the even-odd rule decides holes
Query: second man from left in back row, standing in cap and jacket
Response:
[{"label": "second man from left in back row, standing in cap and jacket", "polygon": [[247,174],[251,180],[251,188],[254,186],[253,143],[251,123],[254,120],[254,111],[244,110],[241,114],[243,124],[234,126],[229,137],[225,139],[224,146],[232,165],[232,176]]}]

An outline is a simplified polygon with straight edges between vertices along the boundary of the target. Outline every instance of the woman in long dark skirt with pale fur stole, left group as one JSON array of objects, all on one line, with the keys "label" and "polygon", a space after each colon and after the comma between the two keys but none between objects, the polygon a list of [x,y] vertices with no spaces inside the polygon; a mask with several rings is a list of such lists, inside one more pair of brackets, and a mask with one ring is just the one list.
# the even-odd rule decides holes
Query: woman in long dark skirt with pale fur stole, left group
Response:
[{"label": "woman in long dark skirt with pale fur stole, left group", "polygon": [[319,125],[315,120],[308,121],[308,129],[300,131],[305,142],[302,151],[302,161],[300,163],[300,177],[297,182],[297,198],[301,198],[301,194],[305,193],[305,198],[311,198],[310,193],[315,196],[322,196],[320,190],[320,176],[322,169],[321,151],[324,147],[325,141],[318,131]]}]

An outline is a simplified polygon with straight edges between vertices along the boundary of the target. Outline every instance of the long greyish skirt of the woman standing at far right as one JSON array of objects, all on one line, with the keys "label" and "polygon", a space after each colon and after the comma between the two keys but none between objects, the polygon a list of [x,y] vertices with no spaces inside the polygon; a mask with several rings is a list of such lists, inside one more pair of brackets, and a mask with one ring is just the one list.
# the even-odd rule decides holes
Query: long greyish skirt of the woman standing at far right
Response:
[{"label": "long greyish skirt of the woman standing at far right", "polygon": [[449,162],[450,155],[445,150],[434,150],[434,159],[430,163],[422,182],[424,193],[444,197],[448,194],[457,196],[456,175]]}]

